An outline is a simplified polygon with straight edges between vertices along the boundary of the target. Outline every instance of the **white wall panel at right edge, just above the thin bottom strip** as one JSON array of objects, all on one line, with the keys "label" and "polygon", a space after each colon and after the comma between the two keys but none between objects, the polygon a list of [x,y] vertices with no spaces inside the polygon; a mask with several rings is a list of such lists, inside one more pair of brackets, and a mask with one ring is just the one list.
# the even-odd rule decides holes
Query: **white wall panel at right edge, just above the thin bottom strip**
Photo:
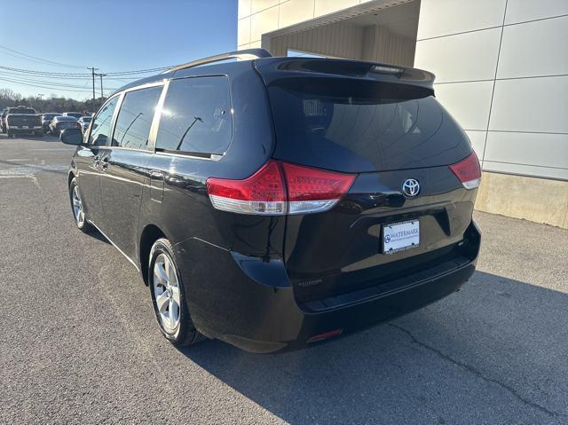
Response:
[{"label": "white wall panel at right edge, just above the thin bottom strip", "polygon": [[568,135],[490,131],[485,161],[564,169],[568,174]]}]

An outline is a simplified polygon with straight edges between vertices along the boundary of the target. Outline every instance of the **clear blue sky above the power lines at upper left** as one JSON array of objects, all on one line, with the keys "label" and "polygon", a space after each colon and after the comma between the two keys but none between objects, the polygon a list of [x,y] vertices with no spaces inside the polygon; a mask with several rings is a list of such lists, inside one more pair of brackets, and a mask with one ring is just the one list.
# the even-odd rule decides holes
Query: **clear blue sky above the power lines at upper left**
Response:
[{"label": "clear blue sky above the power lines at upper left", "polygon": [[[75,67],[61,67],[23,59],[0,47],[0,67],[51,73],[119,72],[164,67],[223,51],[237,43],[237,0],[2,0],[0,46],[41,59]],[[140,75],[142,76],[142,75]],[[27,87],[9,80],[73,84],[64,88]],[[105,78],[108,88],[126,81]],[[58,87],[61,87],[58,85]],[[13,74],[0,68],[0,89],[24,96],[51,93],[90,98],[91,79],[52,79]],[[84,90],[84,92],[83,92]],[[108,91],[106,91],[106,94]],[[97,80],[99,95],[99,79]]]}]

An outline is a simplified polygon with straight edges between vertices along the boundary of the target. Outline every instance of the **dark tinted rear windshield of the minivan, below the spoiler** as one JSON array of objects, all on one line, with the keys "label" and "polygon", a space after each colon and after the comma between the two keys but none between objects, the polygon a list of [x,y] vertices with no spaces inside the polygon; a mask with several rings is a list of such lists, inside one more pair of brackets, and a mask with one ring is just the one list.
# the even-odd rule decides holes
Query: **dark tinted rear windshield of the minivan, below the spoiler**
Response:
[{"label": "dark tinted rear windshield of the minivan, below the spoiler", "polygon": [[451,164],[471,151],[430,89],[332,78],[286,78],[268,88],[276,158],[365,172]]}]

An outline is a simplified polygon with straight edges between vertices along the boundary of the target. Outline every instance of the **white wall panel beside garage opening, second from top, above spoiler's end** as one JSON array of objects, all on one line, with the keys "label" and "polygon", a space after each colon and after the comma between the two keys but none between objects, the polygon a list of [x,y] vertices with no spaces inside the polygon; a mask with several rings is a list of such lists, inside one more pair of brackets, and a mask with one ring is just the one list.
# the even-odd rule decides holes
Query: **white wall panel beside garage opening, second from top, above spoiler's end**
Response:
[{"label": "white wall panel beside garage opening, second from top, above spoiler's end", "polygon": [[492,80],[501,28],[432,38],[416,43],[414,67],[433,72],[437,83]]}]

